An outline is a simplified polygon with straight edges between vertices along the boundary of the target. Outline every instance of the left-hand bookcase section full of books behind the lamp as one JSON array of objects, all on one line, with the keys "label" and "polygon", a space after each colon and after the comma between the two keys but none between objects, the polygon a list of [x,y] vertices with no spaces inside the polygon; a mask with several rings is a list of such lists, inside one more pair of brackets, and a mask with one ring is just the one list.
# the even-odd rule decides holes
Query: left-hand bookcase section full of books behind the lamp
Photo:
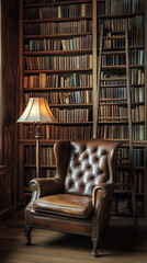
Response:
[{"label": "left-hand bookcase section full of books behind the lamp", "polygon": [[[43,125],[41,174],[54,176],[58,139],[92,137],[92,1],[20,1],[20,113],[45,96],[57,123]],[[20,201],[35,176],[34,129],[20,125]]]}]

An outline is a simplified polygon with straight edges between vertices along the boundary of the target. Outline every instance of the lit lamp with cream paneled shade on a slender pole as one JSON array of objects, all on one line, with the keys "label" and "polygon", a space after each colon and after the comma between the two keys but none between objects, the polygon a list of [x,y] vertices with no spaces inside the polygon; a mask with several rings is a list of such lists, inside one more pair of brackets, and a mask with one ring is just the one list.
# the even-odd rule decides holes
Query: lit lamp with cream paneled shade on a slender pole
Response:
[{"label": "lit lamp with cream paneled shade on a slender pole", "polygon": [[54,117],[45,98],[30,98],[23,114],[16,122],[35,124],[36,178],[39,178],[41,124],[56,122],[56,118]]}]

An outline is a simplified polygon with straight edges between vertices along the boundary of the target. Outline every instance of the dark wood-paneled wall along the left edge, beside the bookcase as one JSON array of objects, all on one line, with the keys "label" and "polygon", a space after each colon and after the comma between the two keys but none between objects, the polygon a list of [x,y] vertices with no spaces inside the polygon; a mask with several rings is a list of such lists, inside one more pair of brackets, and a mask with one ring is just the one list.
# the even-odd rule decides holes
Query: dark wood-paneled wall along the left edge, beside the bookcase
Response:
[{"label": "dark wood-paneled wall along the left edge, beside the bookcase", "polygon": [[[11,206],[16,193],[16,93],[19,60],[18,0],[1,1],[1,104],[2,104],[2,164],[11,180]],[[1,108],[0,108],[1,111]]]}]

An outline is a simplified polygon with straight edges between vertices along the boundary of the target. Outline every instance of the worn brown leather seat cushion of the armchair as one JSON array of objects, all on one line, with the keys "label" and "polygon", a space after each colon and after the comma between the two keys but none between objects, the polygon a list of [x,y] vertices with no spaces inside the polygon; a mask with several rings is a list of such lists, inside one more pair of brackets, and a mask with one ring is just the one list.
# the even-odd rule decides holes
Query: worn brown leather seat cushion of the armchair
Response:
[{"label": "worn brown leather seat cushion of the armchair", "polygon": [[49,195],[34,201],[33,209],[42,213],[88,218],[92,213],[92,198],[70,194]]}]

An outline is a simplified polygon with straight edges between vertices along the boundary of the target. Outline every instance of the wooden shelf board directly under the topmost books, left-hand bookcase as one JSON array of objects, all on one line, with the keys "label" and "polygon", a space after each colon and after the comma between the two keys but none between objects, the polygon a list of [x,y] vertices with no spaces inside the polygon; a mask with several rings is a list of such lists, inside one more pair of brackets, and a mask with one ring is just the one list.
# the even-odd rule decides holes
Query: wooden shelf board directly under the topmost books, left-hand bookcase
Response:
[{"label": "wooden shelf board directly under the topmost books, left-hand bookcase", "polygon": [[32,19],[32,20],[24,20],[24,24],[29,23],[60,23],[60,22],[72,22],[72,21],[80,21],[80,20],[92,20],[92,16],[77,16],[77,18],[61,18],[61,19]]}]

